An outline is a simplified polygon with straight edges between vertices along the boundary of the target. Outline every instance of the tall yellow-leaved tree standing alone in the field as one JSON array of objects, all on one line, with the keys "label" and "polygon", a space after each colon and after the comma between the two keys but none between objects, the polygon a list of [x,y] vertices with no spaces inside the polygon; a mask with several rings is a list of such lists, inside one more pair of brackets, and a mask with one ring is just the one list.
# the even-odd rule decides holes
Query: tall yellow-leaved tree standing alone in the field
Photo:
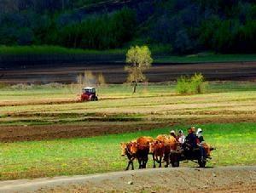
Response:
[{"label": "tall yellow-leaved tree standing alone in the field", "polygon": [[146,81],[143,71],[150,68],[153,59],[147,46],[131,47],[126,54],[125,71],[128,72],[127,82],[133,85],[133,93],[136,93],[137,83]]}]

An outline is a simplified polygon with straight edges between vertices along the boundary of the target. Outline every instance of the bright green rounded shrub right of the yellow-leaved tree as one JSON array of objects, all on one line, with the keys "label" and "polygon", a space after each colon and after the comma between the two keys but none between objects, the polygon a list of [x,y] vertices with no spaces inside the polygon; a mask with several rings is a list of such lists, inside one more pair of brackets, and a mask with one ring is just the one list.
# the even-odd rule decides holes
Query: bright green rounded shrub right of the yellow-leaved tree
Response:
[{"label": "bright green rounded shrub right of the yellow-leaved tree", "polygon": [[202,94],[205,92],[207,82],[201,73],[193,77],[182,76],[177,78],[176,90],[178,94]]}]

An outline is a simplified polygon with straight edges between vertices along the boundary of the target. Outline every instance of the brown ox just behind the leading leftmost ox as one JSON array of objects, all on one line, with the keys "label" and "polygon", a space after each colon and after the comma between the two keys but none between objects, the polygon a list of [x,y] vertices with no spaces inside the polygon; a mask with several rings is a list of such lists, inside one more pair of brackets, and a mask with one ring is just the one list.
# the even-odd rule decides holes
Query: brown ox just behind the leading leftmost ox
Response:
[{"label": "brown ox just behind the leading leftmost ox", "polygon": [[139,168],[146,168],[148,162],[149,144],[153,142],[151,137],[140,137],[137,139],[137,161]]}]

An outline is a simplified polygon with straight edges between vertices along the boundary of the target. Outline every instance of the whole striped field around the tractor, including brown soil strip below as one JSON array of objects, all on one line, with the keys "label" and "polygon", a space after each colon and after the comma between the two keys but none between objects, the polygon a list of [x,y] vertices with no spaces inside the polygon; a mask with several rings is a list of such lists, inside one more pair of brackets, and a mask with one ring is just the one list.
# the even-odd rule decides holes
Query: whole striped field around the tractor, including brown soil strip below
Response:
[{"label": "whole striped field around the tractor, including brown soil strip below", "polygon": [[186,123],[254,122],[254,82],[210,82],[207,94],[177,95],[173,83],[98,88],[99,101],[81,103],[79,88],[2,88],[3,141],[90,137]]}]

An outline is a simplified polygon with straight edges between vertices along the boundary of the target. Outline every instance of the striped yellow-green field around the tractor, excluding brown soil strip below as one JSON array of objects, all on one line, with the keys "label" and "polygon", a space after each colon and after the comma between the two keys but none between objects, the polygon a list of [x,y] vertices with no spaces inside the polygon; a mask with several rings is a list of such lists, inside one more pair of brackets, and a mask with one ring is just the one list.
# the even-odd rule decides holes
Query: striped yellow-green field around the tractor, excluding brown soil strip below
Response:
[{"label": "striped yellow-green field around the tractor, excluding brown soil strip below", "polygon": [[256,113],[254,82],[211,82],[206,94],[195,95],[176,94],[173,83],[140,85],[137,94],[129,85],[108,85],[98,88],[99,101],[90,103],[78,102],[80,89],[72,87],[2,88],[0,125],[86,123],[95,117],[104,122],[232,121]]}]

